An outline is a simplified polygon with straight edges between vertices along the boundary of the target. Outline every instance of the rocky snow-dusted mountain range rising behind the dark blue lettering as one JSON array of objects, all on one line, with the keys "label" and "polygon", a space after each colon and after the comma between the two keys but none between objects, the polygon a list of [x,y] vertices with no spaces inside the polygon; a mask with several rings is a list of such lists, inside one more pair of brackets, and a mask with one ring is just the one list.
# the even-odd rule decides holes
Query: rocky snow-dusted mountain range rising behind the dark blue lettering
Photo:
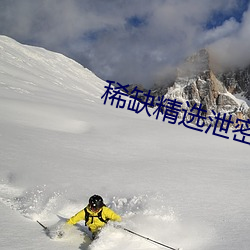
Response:
[{"label": "rocky snow-dusted mountain range rising behind the dark blue lettering", "polygon": [[[222,65],[218,67],[209,50],[201,49],[179,65],[172,82],[161,82],[152,87],[154,105],[157,107],[162,96],[166,100],[164,105],[167,105],[168,100],[176,99],[182,103],[182,109],[188,112],[194,105],[201,105],[207,118],[214,116],[214,113],[220,113],[221,116],[226,114],[227,117],[231,115],[234,121],[231,127],[237,126],[237,119],[246,121],[250,118],[249,69],[225,70]],[[144,92],[144,96],[140,94],[140,99],[145,102],[149,90],[141,85],[130,85],[130,90],[135,86]],[[183,115],[182,110],[179,118]],[[206,123],[209,125],[209,122]]]}]

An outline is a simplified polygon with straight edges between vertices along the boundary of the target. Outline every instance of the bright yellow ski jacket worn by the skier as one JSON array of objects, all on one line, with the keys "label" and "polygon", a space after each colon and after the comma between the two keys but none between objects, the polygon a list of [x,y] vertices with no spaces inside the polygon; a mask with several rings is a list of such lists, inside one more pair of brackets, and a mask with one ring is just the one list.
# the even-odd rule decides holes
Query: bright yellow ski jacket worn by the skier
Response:
[{"label": "bright yellow ski jacket worn by the skier", "polygon": [[[106,223],[104,221],[112,220],[112,221],[121,221],[120,215],[116,214],[110,208],[103,206],[99,211],[93,212],[88,207],[86,207],[87,212],[89,213],[88,221],[85,221],[86,226],[90,229],[92,233],[97,232],[100,228],[102,228]],[[98,215],[100,215],[101,211],[101,218],[104,220],[100,220]],[[72,216],[68,221],[67,224],[74,225],[80,220],[85,220],[85,210],[82,209],[77,214]]]}]

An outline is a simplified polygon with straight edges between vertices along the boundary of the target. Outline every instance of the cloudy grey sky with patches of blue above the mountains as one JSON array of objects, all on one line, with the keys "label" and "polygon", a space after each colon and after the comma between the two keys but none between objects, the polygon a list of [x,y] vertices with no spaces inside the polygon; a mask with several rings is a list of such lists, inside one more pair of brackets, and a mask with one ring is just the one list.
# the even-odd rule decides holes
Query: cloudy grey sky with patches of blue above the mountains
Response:
[{"label": "cloudy grey sky with patches of blue above the mountains", "polygon": [[249,1],[0,0],[0,34],[148,87],[208,46],[223,63],[249,63]]}]

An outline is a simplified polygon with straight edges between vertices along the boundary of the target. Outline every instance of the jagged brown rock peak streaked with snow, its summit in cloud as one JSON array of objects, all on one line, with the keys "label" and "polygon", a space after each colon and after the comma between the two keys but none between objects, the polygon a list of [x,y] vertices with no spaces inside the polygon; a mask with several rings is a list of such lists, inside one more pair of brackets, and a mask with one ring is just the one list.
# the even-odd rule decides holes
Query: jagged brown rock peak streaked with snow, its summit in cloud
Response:
[{"label": "jagged brown rock peak streaked with snow, its summit in cloud", "polygon": [[191,105],[201,103],[202,108],[207,110],[207,115],[214,110],[216,113],[229,113],[235,117],[239,117],[241,113],[242,117],[247,119],[250,113],[249,107],[232,93],[244,89],[245,96],[247,94],[250,96],[249,70],[250,68],[248,71],[221,74],[218,77],[210,67],[208,51],[203,49],[187,58],[180,66],[177,78],[165,96],[181,101],[184,106],[186,101]]}]

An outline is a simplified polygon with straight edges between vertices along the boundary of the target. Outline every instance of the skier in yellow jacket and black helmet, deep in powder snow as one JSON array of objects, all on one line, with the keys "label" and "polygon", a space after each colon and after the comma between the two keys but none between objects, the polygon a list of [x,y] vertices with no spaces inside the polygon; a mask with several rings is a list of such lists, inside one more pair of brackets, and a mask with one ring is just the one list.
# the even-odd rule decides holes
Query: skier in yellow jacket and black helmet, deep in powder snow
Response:
[{"label": "skier in yellow jacket and black helmet, deep in powder snow", "polygon": [[89,198],[89,204],[72,216],[67,224],[74,225],[80,220],[85,220],[85,226],[92,232],[94,239],[109,220],[120,222],[122,219],[120,215],[105,206],[101,196],[95,194]]}]

